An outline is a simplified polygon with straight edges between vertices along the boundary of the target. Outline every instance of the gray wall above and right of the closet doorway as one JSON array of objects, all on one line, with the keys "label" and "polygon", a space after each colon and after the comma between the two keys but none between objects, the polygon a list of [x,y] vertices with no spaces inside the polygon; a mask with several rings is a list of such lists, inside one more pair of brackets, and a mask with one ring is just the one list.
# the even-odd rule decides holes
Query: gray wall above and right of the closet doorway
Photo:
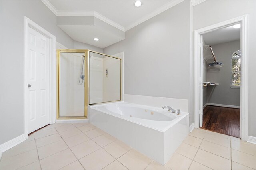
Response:
[{"label": "gray wall above and right of the closet doorway", "polygon": [[[231,12],[230,10],[236,10]],[[249,118],[248,135],[256,136],[256,1],[255,0],[206,0],[194,6],[194,30],[223,22],[244,14],[248,17],[248,55],[249,55]]]}]

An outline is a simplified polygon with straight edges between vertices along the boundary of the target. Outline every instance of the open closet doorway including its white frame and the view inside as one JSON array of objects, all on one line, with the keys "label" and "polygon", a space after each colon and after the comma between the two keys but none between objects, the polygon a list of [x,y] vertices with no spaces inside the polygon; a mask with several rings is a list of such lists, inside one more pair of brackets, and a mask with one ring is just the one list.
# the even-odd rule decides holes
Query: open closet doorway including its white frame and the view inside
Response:
[{"label": "open closet doorway including its white frame and the view inside", "polygon": [[[247,140],[248,138],[247,19],[248,16],[244,15],[199,30],[195,30],[195,127],[203,127],[215,132],[240,137],[242,140]],[[241,29],[240,49],[234,49],[233,51],[230,49],[232,52],[230,52],[230,64],[228,64],[227,61],[222,61],[224,57],[222,57],[222,53],[220,53],[221,51],[219,50],[220,48],[227,49],[227,47],[224,47],[224,43],[228,42],[219,42],[219,45],[218,42],[217,44],[210,42],[214,44],[211,45],[210,43],[204,41],[204,36],[207,38],[207,35],[210,35],[213,32],[218,32],[221,29],[223,31],[223,29],[228,29],[229,27],[233,27],[234,25],[238,24],[240,24]],[[227,37],[226,34],[225,36],[213,36],[212,39],[222,40],[224,37]],[[233,40],[233,43],[234,41],[236,40]],[[223,44],[221,45],[221,43]],[[238,44],[239,42],[236,43]],[[234,46],[234,44],[229,46]],[[204,55],[204,51],[207,49],[208,52],[205,52]],[[237,64],[234,66],[234,69],[231,69],[232,56],[234,53],[237,53],[238,50],[241,52],[239,54],[240,66],[237,66]],[[233,58],[235,58],[235,56]],[[217,67],[212,65],[217,65]],[[227,66],[230,67],[230,69]],[[240,67],[240,79],[237,79],[238,71],[235,70],[236,67]],[[207,69],[212,71],[212,73],[207,74]],[[223,71],[225,69],[228,69],[230,73],[224,73]],[[233,74],[235,71],[236,74]],[[229,77],[225,78],[225,74],[229,75]],[[205,75],[207,75],[207,77]],[[235,93],[232,93],[233,96],[228,95],[227,89],[224,89],[222,92],[219,91],[220,87],[226,87],[227,83],[220,81],[218,78],[229,79],[230,91],[237,92],[240,90],[238,95],[237,93],[236,97],[234,95]],[[230,98],[228,99],[225,97]],[[236,104],[232,104],[232,102]],[[234,122],[236,127],[233,126]],[[239,128],[240,132],[237,130]],[[232,130],[236,130],[238,132],[234,133]]]}]

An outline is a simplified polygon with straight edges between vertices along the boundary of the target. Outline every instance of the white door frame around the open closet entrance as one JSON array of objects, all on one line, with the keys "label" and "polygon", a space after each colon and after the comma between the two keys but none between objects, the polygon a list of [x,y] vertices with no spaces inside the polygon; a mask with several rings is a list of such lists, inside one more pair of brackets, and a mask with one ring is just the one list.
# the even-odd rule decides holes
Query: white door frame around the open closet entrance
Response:
[{"label": "white door frame around the open closet entrance", "polygon": [[219,28],[241,23],[241,87],[240,87],[240,137],[248,139],[248,14],[224,22],[213,24],[194,31],[194,122],[199,128],[199,101],[200,101],[200,35],[212,32]]}]

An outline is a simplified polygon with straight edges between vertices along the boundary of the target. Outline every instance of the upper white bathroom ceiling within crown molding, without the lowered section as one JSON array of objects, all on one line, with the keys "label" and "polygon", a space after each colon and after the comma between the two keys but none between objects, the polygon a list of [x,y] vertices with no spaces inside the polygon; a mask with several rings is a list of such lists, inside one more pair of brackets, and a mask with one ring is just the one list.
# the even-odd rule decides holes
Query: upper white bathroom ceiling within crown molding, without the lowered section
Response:
[{"label": "upper white bathroom ceiling within crown molding, without the lowered section", "polygon": [[158,8],[168,6],[177,0],[142,0],[142,6],[135,7],[135,0],[49,0],[57,11],[95,11],[125,29],[134,22],[151,14]]}]

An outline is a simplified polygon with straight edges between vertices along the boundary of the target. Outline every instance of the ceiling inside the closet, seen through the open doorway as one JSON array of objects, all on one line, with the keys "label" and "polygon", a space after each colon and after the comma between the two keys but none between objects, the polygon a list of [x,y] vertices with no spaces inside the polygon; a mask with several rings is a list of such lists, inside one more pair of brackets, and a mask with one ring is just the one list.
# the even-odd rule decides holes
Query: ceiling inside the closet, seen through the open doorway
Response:
[{"label": "ceiling inside the closet, seen through the open doorway", "polygon": [[240,28],[233,28],[233,26],[220,28],[203,34],[203,39],[206,45],[215,45],[240,40]]}]

